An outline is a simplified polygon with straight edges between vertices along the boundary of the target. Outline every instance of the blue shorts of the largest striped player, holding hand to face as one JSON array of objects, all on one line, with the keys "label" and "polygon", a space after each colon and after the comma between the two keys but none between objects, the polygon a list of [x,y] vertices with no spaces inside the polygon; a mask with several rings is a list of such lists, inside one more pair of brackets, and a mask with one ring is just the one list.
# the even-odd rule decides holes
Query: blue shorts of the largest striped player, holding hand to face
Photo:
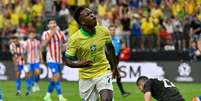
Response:
[{"label": "blue shorts of the largest striped player, holding hand to face", "polygon": [[58,63],[47,63],[51,72],[54,74],[59,74],[61,72],[61,64]]}]

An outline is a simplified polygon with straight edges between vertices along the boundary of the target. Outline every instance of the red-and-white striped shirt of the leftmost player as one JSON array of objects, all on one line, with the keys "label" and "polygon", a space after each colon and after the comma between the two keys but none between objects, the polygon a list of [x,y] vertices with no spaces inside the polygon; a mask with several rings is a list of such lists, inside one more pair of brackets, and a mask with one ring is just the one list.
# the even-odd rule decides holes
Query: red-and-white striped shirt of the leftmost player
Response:
[{"label": "red-and-white striped shirt of the leftmost player", "polygon": [[25,59],[23,55],[25,54],[25,50],[23,47],[23,44],[20,43],[20,45],[16,45],[14,42],[10,44],[10,52],[14,57],[16,57],[16,62],[18,65],[24,65]]}]

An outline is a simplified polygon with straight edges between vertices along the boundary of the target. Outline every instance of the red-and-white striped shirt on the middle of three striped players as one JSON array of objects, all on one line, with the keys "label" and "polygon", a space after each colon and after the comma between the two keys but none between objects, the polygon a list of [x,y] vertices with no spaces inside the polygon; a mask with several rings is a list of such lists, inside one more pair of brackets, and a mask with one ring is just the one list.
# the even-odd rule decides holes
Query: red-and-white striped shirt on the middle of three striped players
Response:
[{"label": "red-and-white striped shirt on the middle of three striped players", "polygon": [[28,39],[24,47],[27,51],[27,63],[34,64],[40,62],[40,41]]}]

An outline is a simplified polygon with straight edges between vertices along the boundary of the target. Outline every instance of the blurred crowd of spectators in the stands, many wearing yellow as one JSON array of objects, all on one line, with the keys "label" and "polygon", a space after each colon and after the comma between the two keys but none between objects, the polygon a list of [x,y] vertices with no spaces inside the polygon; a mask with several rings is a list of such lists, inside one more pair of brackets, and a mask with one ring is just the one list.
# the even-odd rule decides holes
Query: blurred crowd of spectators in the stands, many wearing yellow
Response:
[{"label": "blurred crowd of spectators in the stands, many wearing yellow", "polygon": [[70,37],[79,28],[72,18],[79,6],[93,9],[99,25],[114,24],[116,36],[132,51],[200,54],[201,0],[0,0],[1,51],[13,34],[40,37],[51,16]]}]

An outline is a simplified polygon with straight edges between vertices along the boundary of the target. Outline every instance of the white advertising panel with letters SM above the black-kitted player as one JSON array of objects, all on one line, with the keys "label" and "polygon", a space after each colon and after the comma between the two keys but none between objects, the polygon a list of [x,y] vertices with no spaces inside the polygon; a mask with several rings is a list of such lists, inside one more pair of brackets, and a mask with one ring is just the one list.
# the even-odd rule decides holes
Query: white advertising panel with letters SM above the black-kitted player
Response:
[{"label": "white advertising panel with letters SM above the black-kitted player", "polygon": [[156,62],[120,62],[118,68],[123,82],[136,82],[139,76],[163,79],[165,75]]}]

